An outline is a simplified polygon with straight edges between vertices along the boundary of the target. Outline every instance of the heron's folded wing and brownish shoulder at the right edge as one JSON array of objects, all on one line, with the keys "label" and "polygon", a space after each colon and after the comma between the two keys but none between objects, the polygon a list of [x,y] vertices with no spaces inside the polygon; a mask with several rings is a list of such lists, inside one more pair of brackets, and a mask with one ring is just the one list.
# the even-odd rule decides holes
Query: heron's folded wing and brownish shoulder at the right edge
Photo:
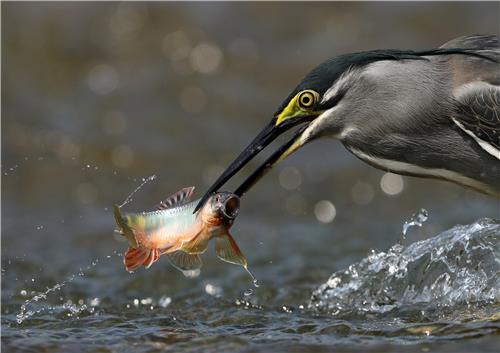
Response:
[{"label": "heron's folded wing and brownish shoulder at the right edge", "polygon": [[483,150],[500,159],[500,43],[496,36],[454,39],[443,48],[472,49],[491,60],[453,55],[455,124]]}]

